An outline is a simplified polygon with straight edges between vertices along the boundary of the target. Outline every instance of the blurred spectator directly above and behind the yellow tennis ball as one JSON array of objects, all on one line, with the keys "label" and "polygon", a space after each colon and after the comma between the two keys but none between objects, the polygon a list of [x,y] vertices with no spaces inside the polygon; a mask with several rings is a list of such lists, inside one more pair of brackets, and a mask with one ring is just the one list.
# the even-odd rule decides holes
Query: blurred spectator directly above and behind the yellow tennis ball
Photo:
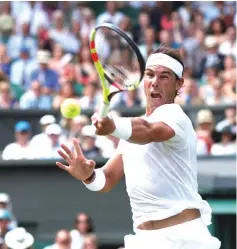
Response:
[{"label": "blurred spectator directly above and behind the yellow tennis ball", "polygon": [[73,85],[71,82],[65,82],[60,91],[59,91],[59,94],[57,94],[55,97],[54,97],[54,100],[53,100],[53,108],[54,109],[59,109],[60,108],[60,105],[61,103],[67,99],[67,98],[71,98],[71,99],[75,99],[78,101],[79,103],[79,97],[76,95],[75,91],[74,91],[74,88],[73,88]]}]

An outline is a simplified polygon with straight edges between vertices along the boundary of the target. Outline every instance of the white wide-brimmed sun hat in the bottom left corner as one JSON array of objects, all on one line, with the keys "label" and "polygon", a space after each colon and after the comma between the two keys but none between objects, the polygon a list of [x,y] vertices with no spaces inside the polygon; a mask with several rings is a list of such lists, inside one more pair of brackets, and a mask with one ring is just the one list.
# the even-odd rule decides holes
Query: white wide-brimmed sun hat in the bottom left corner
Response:
[{"label": "white wide-brimmed sun hat in the bottom left corner", "polygon": [[13,229],[5,236],[5,244],[8,249],[32,249],[33,243],[33,235],[23,227]]}]

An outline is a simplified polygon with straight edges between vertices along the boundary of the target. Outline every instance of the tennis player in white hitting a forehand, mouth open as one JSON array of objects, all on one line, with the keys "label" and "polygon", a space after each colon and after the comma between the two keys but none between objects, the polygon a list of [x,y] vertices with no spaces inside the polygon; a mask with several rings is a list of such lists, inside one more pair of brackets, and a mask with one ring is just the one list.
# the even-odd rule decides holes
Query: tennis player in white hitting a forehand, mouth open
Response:
[{"label": "tennis player in white hitting a forehand, mouth open", "polygon": [[135,232],[125,236],[126,249],[220,248],[207,228],[211,208],[198,194],[196,133],[174,104],[183,70],[178,50],[159,47],[146,63],[145,116],[93,115],[97,135],[120,138],[117,153],[101,169],[94,169],[95,162],[83,156],[75,139],[75,152],[65,145],[58,151],[69,166],[57,166],[91,191],[110,191],[125,175]]}]

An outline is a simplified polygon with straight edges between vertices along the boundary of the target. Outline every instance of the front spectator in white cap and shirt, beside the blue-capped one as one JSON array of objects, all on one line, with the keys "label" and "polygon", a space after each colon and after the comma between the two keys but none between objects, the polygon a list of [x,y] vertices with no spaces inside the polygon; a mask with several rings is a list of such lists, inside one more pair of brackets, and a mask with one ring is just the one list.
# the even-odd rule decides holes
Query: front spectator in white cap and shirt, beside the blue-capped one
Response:
[{"label": "front spectator in white cap and shirt, beside the blue-capped one", "polygon": [[60,158],[58,149],[60,144],[65,140],[62,137],[62,128],[58,124],[50,124],[45,129],[45,133],[49,138],[49,143],[44,144],[40,150],[35,150],[34,158],[37,159],[56,159]]}]

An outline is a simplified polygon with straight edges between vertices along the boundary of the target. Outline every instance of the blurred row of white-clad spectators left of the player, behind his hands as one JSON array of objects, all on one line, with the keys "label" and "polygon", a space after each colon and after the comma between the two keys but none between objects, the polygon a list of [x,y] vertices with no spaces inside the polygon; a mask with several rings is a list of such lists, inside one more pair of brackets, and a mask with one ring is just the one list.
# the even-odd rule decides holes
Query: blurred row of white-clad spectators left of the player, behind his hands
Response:
[{"label": "blurred row of white-clad spectators left of the player, behind his hands", "polygon": [[[114,115],[118,115],[114,112]],[[80,141],[85,157],[109,158],[115,152],[119,140],[112,136],[96,136],[95,127],[85,115],[74,119],[61,119],[58,123],[53,115],[39,120],[41,133],[32,136],[30,122],[21,120],[15,124],[15,142],[6,145],[2,151],[3,160],[59,159],[58,149],[62,143],[73,147],[72,138]]]}]

